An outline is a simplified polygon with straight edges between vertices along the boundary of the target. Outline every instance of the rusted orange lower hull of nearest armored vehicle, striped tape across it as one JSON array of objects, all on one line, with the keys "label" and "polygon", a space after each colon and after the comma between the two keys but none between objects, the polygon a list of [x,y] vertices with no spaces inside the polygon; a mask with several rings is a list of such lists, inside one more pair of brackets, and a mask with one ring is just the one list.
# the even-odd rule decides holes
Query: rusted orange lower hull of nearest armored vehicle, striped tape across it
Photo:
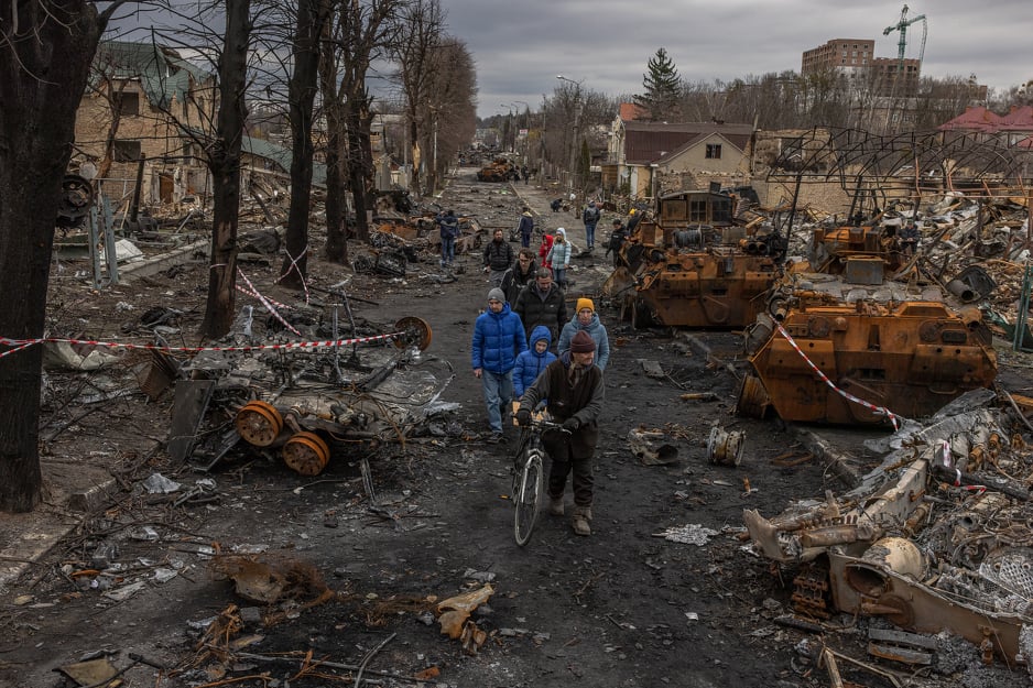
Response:
[{"label": "rusted orange lower hull of nearest armored vehicle, striped tape across it", "polygon": [[754,375],[740,385],[739,413],[773,408],[784,421],[890,424],[892,415],[933,415],[997,376],[991,335],[976,308],[815,301],[820,305],[772,302],[775,314],[751,326]]}]

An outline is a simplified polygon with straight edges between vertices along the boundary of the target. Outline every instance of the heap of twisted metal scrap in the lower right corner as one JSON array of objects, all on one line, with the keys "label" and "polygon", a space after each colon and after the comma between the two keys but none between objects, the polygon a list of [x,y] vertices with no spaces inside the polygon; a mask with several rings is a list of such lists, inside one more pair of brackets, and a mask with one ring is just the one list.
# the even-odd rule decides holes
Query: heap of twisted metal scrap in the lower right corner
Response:
[{"label": "heap of twisted metal scrap in the lower right corner", "polygon": [[850,492],[796,502],[771,520],[746,511],[757,548],[804,564],[797,614],[841,612],[918,633],[948,631],[985,663],[1033,651],[1033,451],[1018,408],[971,392],[924,427],[887,440],[882,465]]}]

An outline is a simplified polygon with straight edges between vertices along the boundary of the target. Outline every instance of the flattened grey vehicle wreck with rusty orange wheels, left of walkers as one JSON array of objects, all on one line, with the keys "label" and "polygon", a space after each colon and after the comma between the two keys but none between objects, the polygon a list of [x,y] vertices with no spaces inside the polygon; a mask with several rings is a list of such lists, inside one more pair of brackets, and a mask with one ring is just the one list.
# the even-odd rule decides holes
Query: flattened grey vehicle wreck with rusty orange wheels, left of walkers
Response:
[{"label": "flattened grey vehicle wreck with rusty orange wheels, left of walkers", "polygon": [[178,365],[156,358],[150,379],[175,383],[170,455],[206,469],[233,456],[263,456],[315,476],[335,456],[365,467],[379,450],[426,433],[447,406],[439,397],[453,378],[447,363],[422,357],[429,326],[404,317],[383,334],[357,323],[349,307],[351,336],[342,338],[339,305],[326,305],[326,319],[318,308],[290,320],[270,316],[268,343],[248,343],[248,314],[228,346]]}]

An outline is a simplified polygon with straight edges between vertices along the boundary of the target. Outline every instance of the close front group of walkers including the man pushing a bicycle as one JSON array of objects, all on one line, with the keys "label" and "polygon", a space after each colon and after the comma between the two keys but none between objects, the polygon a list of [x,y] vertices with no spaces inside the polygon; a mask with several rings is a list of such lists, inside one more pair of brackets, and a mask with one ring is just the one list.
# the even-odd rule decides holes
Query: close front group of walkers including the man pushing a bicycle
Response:
[{"label": "close front group of walkers including the man pushing a bicycle", "polygon": [[[557,243],[562,245],[558,237],[553,252]],[[500,251],[486,251],[486,260]],[[486,267],[490,274],[497,272],[491,264]],[[555,352],[553,342],[557,342]],[[470,362],[481,381],[489,443],[504,441],[513,402],[519,402],[519,424],[530,423],[531,413],[544,405],[567,430],[542,436],[551,458],[548,510],[564,515],[564,492],[573,473],[572,524],[578,535],[591,534],[591,467],[605,396],[602,371],[609,356],[609,339],[595,303],[587,297],[576,299],[575,317],[568,319],[566,295],[553,271],[535,265],[530,248],[521,248],[499,285],[488,292],[487,308],[474,324]]]}]

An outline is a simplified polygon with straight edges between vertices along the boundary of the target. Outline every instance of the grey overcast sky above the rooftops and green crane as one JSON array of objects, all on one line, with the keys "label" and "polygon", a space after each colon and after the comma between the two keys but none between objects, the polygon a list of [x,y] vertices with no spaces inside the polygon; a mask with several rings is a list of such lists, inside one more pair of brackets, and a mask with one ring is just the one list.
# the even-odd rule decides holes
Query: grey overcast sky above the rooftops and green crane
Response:
[{"label": "grey overcast sky above the rooftops and green crane", "polygon": [[[610,97],[641,92],[646,62],[665,47],[688,81],[800,72],[804,51],[833,39],[873,39],[896,57],[904,3],[888,0],[442,0],[449,33],[477,62],[478,114],[518,100],[539,109],[557,74]],[[1007,89],[1033,79],[1033,1],[924,0],[923,76],[968,77]],[[918,57],[918,21],[905,57]],[[523,109],[523,103],[518,103]]]}]

